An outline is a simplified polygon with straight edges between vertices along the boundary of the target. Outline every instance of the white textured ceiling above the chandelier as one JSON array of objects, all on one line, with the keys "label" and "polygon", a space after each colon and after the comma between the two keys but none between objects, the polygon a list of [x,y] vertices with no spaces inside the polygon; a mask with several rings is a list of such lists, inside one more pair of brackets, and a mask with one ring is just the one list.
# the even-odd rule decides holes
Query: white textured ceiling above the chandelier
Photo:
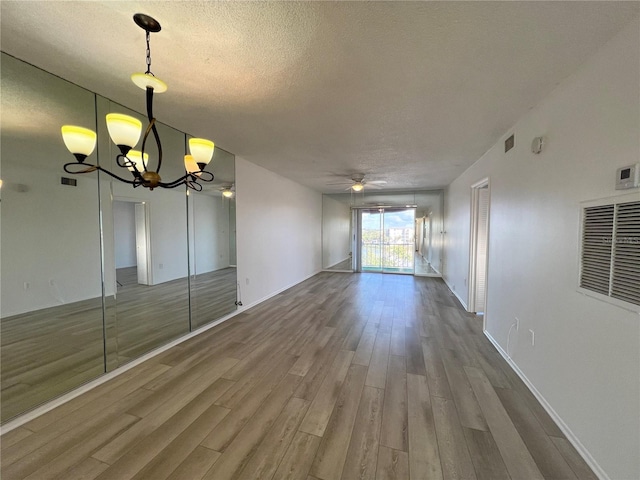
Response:
[{"label": "white textured ceiling above the chandelier", "polygon": [[[1,5],[3,51],[322,192],[449,184],[640,3],[61,2]],[[63,122],[63,119],[60,120]],[[543,132],[541,132],[543,133]],[[215,171],[215,167],[214,167]]]}]

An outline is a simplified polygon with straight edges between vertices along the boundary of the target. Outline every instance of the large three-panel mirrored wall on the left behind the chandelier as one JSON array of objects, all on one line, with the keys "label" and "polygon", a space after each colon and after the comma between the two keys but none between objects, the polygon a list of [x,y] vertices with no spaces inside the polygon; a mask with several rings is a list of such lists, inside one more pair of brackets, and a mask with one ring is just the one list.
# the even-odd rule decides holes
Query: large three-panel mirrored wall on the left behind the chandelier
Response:
[{"label": "large three-panel mirrored wall on the left behind the chandelier", "polygon": [[[97,172],[69,175],[62,124],[96,130],[90,159],[113,171],[117,147],[105,115],[146,119],[4,53],[1,61],[6,422],[233,312],[237,281],[235,196],[222,195],[235,183],[232,154],[216,148],[207,167],[216,178],[197,193],[134,189]],[[167,125],[158,130],[160,173],[178,178],[188,137]],[[153,162],[157,152],[148,150]]]}]

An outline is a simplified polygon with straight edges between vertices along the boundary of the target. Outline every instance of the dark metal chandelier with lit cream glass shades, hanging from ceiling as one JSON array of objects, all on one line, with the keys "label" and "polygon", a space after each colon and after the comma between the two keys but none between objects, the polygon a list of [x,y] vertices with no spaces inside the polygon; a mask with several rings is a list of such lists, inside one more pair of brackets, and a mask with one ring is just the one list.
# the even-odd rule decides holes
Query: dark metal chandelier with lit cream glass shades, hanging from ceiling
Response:
[{"label": "dark metal chandelier with lit cream glass shades, hanging from ceiling", "polygon": [[[151,73],[151,50],[149,48],[150,32],[159,32],[160,24],[148,15],[137,13],[133,16],[136,24],[147,34],[147,71],[145,73],[134,73],[131,80],[138,87],[147,92],[147,117],[149,126],[142,138],[141,151],[133,150],[138,143],[142,133],[142,122],[138,119],[120,113],[110,113],[107,115],[107,129],[113,143],[120,149],[116,157],[119,167],[128,169],[133,178],[125,179],[115,173],[108,171],[99,164],[92,165],[85,163],[85,159],[93,153],[96,147],[96,132],[88,128],[75,125],[64,125],[62,127],[62,138],[69,151],[76,157],[75,162],[66,163],[64,170],[67,173],[79,174],[100,170],[121,182],[133,185],[134,188],[142,185],[153,190],[156,187],[175,188],[186,184],[194,190],[202,190],[203,182],[213,181],[213,174],[206,172],[204,168],[213,157],[214,144],[204,138],[189,139],[189,151],[191,155],[184,156],[185,175],[171,182],[163,182],[160,178],[160,167],[162,166],[162,145],[160,136],[156,129],[156,119],[153,117],[153,92],[162,93],[167,90],[167,84]],[[148,165],[149,155],[145,153],[145,145],[149,134],[153,132],[156,145],[158,146],[158,166],[151,170]]]}]

